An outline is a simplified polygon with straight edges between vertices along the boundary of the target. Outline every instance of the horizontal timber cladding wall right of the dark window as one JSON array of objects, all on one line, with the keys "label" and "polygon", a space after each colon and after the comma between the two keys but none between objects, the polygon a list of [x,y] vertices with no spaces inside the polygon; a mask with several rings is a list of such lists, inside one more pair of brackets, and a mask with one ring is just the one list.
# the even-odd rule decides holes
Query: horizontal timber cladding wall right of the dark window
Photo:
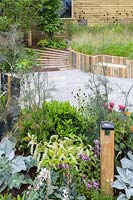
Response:
[{"label": "horizontal timber cladding wall right of the dark window", "polygon": [[133,0],[73,0],[73,18],[88,24],[133,21]]}]

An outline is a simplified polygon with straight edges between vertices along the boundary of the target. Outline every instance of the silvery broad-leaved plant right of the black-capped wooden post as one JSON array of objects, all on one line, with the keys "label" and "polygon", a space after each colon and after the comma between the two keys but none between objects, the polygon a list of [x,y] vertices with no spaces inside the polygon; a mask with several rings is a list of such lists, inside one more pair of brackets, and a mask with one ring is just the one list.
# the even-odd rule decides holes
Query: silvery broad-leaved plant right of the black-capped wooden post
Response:
[{"label": "silvery broad-leaved plant right of the black-capped wooden post", "polygon": [[128,152],[128,158],[121,159],[121,167],[117,167],[119,175],[116,176],[117,180],[112,183],[112,187],[118,190],[124,190],[125,193],[120,192],[117,200],[132,199],[133,197],[133,154]]}]

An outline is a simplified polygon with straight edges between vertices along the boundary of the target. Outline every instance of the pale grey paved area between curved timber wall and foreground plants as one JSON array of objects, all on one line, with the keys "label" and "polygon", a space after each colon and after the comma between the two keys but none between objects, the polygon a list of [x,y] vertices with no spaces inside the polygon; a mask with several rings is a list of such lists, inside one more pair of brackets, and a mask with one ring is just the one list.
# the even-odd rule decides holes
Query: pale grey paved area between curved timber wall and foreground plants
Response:
[{"label": "pale grey paved area between curved timber wall and foreground plants", "polygon": [[[44,74],[41,73],[41,86],[45,81],[42,81]],[[47,73],[49,86],[53,89],[50,91],[51,98],[59,101],[69,101],[72,105],[77,105],[74,95],[79,89],[82,89],[88,96],[91,96],[90,87],[87,86],[90,80],[90,73],[80,71],[78,69],[65,70],[65,71],[51,71]],[[99,76],[100,77],[100,76]],[[116,105],[125,103],[125,96],[122,91],[127,93],[133,84],[133,79],[123,78],[107,78],[108,86],[113,89],[109,94],[109,100],[113,101]],[[32,88],[34,86],[32,85]],[[44,86],[43,86],[44,87]],[[121,88],[121,89],[120,89]],[[73,92],[73,94],[72,94]],[[128,97],[128,103],[133,105],[133,88]],[[130,106],[133,111],[133,106]]]}]

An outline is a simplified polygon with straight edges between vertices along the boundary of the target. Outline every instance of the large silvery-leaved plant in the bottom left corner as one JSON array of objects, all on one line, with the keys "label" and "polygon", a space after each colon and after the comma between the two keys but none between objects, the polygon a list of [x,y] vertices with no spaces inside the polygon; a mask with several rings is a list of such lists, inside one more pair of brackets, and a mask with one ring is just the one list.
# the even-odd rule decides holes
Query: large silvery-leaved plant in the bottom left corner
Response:
[{"label": "large silvery-leaved plant in the bottom left corner", "polygon": [[0,143],[0,192],[5,189],[20,189],[32,181],[22,173],[35,166],[32,156],[15,156],[16,140],[4,137]]}]

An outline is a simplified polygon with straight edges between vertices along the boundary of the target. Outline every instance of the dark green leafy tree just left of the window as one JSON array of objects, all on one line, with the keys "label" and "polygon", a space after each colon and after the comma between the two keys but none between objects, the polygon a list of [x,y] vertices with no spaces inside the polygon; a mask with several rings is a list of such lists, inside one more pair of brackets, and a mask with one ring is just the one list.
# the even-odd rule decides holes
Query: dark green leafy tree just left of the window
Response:
[{"label": "dark green leafy tree just left of the window", "polygon": [[60,18],[61,0],[44,0],[40,14],[40,28],[52,37],[55,32],[63,31],[63,21]]}]

